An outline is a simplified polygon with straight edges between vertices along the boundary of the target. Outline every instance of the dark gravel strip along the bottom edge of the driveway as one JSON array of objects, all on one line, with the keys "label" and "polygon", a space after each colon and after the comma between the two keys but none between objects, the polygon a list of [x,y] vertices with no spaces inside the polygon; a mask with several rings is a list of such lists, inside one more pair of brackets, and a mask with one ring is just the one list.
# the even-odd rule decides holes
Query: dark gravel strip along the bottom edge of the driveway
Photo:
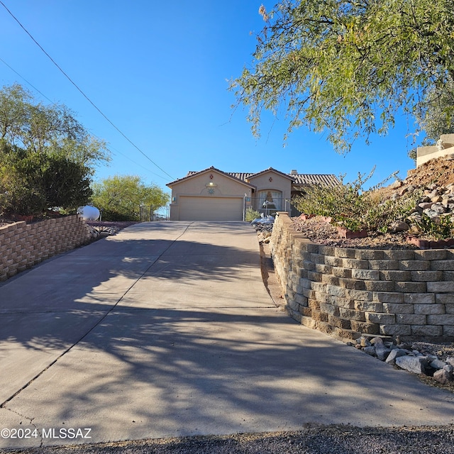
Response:
[{"label": "dark gravel strip along the bottom edge of the driveway", "polygon": [[454,426],[307,426],[297,432],[241,433],[12,450],[23,454],[453,454]]}]

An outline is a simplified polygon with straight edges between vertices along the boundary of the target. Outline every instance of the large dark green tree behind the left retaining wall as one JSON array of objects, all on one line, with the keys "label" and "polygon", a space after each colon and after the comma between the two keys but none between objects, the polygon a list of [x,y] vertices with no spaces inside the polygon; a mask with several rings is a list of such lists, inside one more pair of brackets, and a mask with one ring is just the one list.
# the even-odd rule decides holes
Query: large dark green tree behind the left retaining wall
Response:
[{"label": "large dark green tree behind the left retaining wall", "polygon": [[96,165],[109,160],[66,106],[44,105],[21,85],[0,90],[0,212],[42,215],[87,204]]}]

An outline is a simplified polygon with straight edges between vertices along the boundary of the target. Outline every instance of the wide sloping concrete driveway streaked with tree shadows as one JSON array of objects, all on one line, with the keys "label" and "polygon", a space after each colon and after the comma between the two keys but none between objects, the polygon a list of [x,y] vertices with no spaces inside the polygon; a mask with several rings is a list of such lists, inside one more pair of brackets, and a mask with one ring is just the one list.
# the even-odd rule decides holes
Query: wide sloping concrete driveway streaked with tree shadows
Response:
[{"label": "wide sloping concrete driveway streaked with tree shadows", "polygon": [[6,282],[0,314],[1,448],[454,423],[453,394],[279,311],[247,223],[126,228]]}]

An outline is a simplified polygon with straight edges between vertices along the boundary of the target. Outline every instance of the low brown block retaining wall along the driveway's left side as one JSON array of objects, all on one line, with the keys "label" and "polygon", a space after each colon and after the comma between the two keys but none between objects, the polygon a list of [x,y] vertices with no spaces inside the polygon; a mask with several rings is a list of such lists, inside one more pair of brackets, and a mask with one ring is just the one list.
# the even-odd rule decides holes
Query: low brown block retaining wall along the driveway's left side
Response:
[{"label": "low brown block retaining wall along the driveway's left side", "polygon": [[88,243],[90,238],[87,224],[77,215],[0,227],[0,281]]}]

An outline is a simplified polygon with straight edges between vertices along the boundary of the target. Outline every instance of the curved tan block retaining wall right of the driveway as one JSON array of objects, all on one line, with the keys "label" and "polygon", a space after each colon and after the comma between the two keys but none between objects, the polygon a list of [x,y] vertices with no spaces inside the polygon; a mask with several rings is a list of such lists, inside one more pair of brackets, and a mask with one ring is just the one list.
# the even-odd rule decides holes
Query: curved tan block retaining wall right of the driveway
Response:
[{"label": "curved tan block retaining wall right of the driveway", "polygon": [[316,245],[285,212],[270,241],[290,316],[344,339],[454,341],[454,250],[372,250]]}]

